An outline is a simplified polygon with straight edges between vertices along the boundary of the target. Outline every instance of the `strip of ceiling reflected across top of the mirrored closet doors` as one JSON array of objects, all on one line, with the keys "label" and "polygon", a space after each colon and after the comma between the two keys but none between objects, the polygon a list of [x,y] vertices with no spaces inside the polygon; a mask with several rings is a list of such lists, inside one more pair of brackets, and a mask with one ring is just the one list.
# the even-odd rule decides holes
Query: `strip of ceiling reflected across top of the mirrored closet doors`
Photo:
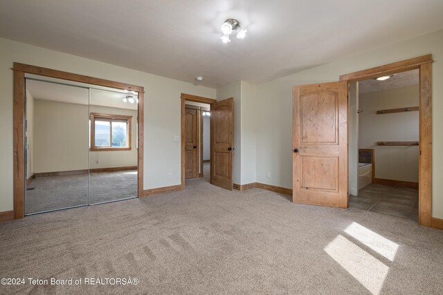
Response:
[{"label": "strip of ceiling reflected across top of the mirrored closet doors", "polygon": [[[26,90],[30,92],[35,99],[45,99],[54,102],[66,102],[70,104],[89,104],[89,89],[87,84],[76,82],[64,82],[60,79],[48,77],[39,77],[45,81],[34,80],[33,75],[27,75],[33,79],[26,79]],[[67,83],[60,84],[60,83]],[[93,106],[109,106],[112,108],[126,108],[136,110],[137,104],[123,102],[123,97],[128,95],[122,91],[100,86],[91,88],[91,105]],[[130,94],[132,95],[132,94]],[[134,98],[136,95],[134,95]]]}]

